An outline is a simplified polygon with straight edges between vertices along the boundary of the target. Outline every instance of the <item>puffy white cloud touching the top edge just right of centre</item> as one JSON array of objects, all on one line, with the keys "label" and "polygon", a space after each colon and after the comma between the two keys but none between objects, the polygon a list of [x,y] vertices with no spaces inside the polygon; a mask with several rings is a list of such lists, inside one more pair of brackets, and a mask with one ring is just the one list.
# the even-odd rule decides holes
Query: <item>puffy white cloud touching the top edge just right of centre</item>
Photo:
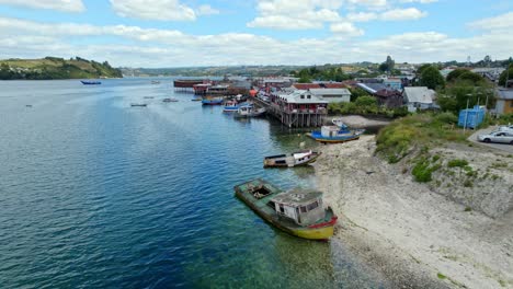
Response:
[{"label": "puffy white cloud touching the top edge just right of centre", "polygon": [[326,22],[340,21],[340,0],[260,0],[259,15],[248,27],[276,30],[321,28]]}]

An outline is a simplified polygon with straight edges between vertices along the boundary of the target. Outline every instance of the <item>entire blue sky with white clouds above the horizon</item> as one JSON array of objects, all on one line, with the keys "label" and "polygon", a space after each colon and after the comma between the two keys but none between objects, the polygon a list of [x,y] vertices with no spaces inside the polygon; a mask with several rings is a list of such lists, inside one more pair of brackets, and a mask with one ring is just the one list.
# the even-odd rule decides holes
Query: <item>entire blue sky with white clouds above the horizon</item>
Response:
[{"label": "entire blue sky with white clouds above the horizon", "polygon": [[513,56],[513,0],[0,0],[0,59],[115,67]]}]

